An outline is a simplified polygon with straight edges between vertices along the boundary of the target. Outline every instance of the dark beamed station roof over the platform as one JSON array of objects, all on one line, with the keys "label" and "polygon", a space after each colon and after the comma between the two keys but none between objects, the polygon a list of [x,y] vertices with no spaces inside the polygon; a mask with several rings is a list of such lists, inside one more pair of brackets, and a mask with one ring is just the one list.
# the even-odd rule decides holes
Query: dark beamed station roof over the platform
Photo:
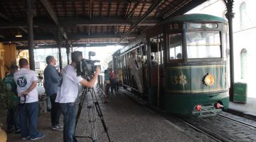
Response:
[{"label": "dark beamed station roof over the platform", "polygon": [[[57,27],[74,46],[124,45],[166,18],[181,15],[207,0],[34,0],[34,45],[57,46]],[[0,3],[0,42],[26,48],[26,1]],[[15,35],[21,34],[22,38]],[[63,42],[64,44],[65,42]]]}]

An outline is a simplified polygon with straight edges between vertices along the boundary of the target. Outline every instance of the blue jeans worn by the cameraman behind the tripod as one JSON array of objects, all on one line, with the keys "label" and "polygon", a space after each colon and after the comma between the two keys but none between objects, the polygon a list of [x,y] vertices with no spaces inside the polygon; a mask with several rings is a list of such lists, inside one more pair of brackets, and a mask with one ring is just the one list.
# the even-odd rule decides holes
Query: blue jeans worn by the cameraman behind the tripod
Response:
[{"label": "blue jeans worn by the cameraman behind the tripod", "polygon": [[75,138],[75,102],[60,103],[60,111],[63,114],[64,121],[64,142],[76,142],[77,140]]}]

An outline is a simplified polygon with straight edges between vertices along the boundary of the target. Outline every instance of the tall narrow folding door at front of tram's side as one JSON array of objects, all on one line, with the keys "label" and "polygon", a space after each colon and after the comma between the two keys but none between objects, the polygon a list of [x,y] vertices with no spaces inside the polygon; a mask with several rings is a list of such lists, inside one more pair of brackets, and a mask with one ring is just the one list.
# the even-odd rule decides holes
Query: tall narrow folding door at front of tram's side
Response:
[{"label": "tall narrow folding door at front of tram's side", "polygon": [[149,38],[149,103],[164,107],[164,36]]}]

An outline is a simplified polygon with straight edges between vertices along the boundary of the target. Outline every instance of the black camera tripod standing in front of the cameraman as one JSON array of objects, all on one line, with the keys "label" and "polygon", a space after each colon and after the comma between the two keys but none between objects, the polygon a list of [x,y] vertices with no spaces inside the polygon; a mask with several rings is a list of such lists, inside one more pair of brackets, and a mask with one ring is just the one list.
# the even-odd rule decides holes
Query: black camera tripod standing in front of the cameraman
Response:
[{"label": "black camera tripod standing in front of the cameraman", "polygon": [[[88,94],[90,94],[90,96],[92,97],[92,102],[90,102],[88,100]],[[100,117],[100,120],[102,122],[104,131],[105,131],[105,133],[107,133],[108,141],[112,142],[110,140],[109,133],[107,132],[107,126],[103,119],[102,111],[100,109],[100,105],[99,105],[99,102],[97,101],[97,97],[96,97],[95,90],[93,87],[92,87],[92,89],[87,88],[87,87],[83,87],[83,89],[82,89],[82,93],[80,95],[80,102],[78,104],[78,114],[76,115],[76,118],[75,118],[75,129],[78,125],[78,119],[80,118],[80,114],[82,111],[82,105],[84,104],[85,101],[87,103],[87,114],[88,114],[88,119],[89,119],[88,121],[90,123],[92,133],[91,133],[91,136],[75,136],[75,137],[91,138],[93,142],[97,142],[97,130],[96,130],[96,126],[95,126],[95,122],[96,122],[95,108],[96,108],[97,114]]]}]

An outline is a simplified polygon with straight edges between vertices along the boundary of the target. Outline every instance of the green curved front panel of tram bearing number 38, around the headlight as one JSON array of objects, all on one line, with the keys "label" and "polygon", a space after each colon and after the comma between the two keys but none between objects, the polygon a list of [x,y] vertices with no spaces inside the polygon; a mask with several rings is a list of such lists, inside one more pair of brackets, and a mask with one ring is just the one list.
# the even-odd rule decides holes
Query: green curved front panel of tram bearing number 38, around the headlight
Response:
[{"label": "green curved front panel of tram bearing number 38, around the headlight", "polygon": [[[206,75],[213,75],[213,85],[206,85]],[[226,65],[187,65],[166,67],[166,93],[202,94],[228,91]]]}]

